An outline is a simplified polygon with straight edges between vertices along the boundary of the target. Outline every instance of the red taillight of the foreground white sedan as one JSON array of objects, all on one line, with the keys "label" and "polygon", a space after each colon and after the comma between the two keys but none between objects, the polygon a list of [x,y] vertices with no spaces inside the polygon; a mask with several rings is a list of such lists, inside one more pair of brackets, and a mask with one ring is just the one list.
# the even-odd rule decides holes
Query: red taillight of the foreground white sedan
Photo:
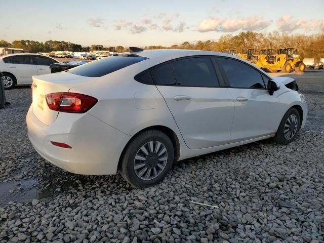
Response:
[{"label": "red taillight of the foreground white sedan", "polygon": [[87,112],[98,102],[94,97],[77,93],[53,93],[45,97],[51,110],[69,113]]}]

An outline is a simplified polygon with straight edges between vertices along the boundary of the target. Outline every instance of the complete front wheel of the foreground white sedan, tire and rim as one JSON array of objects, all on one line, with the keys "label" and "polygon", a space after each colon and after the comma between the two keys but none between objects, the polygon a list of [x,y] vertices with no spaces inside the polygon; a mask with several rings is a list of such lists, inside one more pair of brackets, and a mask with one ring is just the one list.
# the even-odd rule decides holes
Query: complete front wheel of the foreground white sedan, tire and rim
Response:
[{"label": "complete front wheel of the foreground white sedan, tire and rim", "polygon": [[281,144],[288,144],[293,141],[299,131],[300,115],[297,109],[291,108],[282,118],[278,131],[275,134],[275,141]]}]

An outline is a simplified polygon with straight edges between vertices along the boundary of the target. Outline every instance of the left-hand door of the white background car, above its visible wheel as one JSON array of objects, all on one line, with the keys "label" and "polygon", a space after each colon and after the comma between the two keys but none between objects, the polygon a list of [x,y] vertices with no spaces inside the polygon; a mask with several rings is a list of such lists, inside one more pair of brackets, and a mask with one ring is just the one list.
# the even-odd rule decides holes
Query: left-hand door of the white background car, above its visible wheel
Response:
[{"label": "left-hand door of the white background car, above its visible wheel", "polygon": [[10,72],[17,78],[17,84],[31,84],[31,76],[37,75],[31,55],[14,55],[5,59]]}]

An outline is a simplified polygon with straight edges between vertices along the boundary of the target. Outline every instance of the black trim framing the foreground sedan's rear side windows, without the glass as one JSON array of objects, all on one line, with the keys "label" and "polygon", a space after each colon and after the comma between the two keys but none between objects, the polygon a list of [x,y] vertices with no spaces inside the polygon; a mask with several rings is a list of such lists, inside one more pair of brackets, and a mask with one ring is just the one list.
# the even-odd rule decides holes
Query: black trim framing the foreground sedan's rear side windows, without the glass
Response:
[{"label": "black trim framing the foreground sedan's rear side windows, without the glass", "polygon": [[[214,67],[215,75],[216,75],[216,77],[218,79],[219,86],[211,87],[211,86],[182,86],[182,85],[180,86],[180,85],[178,85],[177,79],[176,79],[174,71],[173,71],[173,68],[171,66],[171,62],[175,62],[175,61],[178,61],[178,60],[181,60],[181,59],[189,59],[189,58],[197,58],[197,57],[209,57],[210,58],[212,66]],[[173,78],[175,80],[174,85],[159,85],[159,84],[156,84],[155,81],[154,81],[154,78],[152,76],[152,73],[151,73],[151,76],[152,76],[153,84],[147,84],[147,83],[144,83],[144,82],[140,82],[138,80],[136,80],[136,81],[141,83],[141,84],[155,85],[155,86],[194,87],[194,88],[228,88],[226,86],[226,83],[224,82],[224,78],[222,76],[222,73],[221,73],[219,67],[217,66],[217,63],[213,60],[215,57],[218,57],[218,56],[216,56],[216,55],[194,55],[194,56],[178,57],[178,58],[175,58],[175,59],[172,59],[172,60],[161,62],[159,64],[156,64],[156,65],[152,66],[152,67],[149,67],[149,68],[141,71],[140,73],[136,74],[134,76],[134,79],[136,80],[137,76],[139,76],[141,74],[144,74],[147,70],[149,70],[150,73],[151,73],[151,69],[158,68],[159,66],[163,66],[165,64],[169,64],[170,67],[171,67],[171,70],[172,70]]]}]

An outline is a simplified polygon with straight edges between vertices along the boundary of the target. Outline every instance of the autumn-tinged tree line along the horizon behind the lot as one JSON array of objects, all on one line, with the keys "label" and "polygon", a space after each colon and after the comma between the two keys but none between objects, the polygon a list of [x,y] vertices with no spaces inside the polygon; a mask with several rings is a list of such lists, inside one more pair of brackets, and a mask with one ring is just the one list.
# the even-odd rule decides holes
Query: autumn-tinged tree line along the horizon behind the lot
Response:
[{"label": "autumn-tinged tree line along the horizon behind the lot", "polygon": [[[72,51],[72,52],[89,52],[94,50],[126,52],[128,48],[123,46],[105,47],[103,45],[91,45],[83,47],[78,44],[64,41],[47,41],[35,42],[29,40],[0,41],[0,47],[22,48],[32,53],[51,52],[51,51]],[[273,31],[271,33],[258,33],[253,31],[240,32],[236,35],[222,35],[218,41],[198,41],[196,43],[184,42],[179,45],[166,46],[145,46],[144,49],[193,49],[204,51],[223,52],[225,49],[237,49],[240,52],[242,48],[295,48],[297,54],[301,57],[324,58],[324,34],[287,34]]]}]

